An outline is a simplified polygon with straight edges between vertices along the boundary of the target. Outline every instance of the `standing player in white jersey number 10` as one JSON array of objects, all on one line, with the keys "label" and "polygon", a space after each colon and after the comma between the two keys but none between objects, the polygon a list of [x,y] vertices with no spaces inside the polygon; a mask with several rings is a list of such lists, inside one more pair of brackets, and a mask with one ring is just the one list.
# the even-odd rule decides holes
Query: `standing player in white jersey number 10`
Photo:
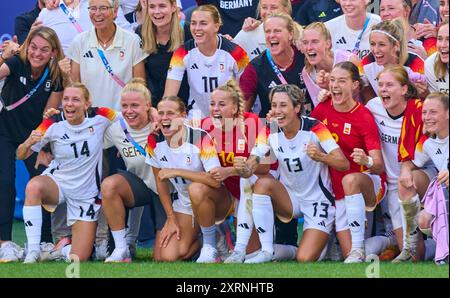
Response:
[{"label": "standing player in white jersey number 10", "polygon": [[218,35],[222,19],[212,5],[194,9],[191,17],[189,40],[172,56],[167,73],[164,95],[177,95],[183,75],[187,72],[190,95],[189,118],[198,126],[201,118],[208,115],[211,92],[231,78],[239,79],[248,63],[245,51],[238,45]]}]

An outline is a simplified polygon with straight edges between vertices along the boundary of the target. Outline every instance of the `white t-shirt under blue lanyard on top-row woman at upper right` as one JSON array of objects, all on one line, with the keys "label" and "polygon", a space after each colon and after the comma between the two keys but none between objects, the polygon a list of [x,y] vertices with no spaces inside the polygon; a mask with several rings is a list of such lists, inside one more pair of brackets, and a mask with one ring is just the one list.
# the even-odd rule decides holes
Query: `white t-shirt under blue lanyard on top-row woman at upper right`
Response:
[{"label": "white t-shirt under blue lanyard on top-row woman at upper right", "polygon": [[[358,50],[358,57],[361,60],[370,53],[369,36],[372,26],[381,22],[381,18],[378,15],[368,13],[367,16],[370,17],[369,24],[362,35]],[[353,51],[361,30],[354,31],[350,29],[345,22],[345,15],[341,15],[325,22],[325,26],[331,33],[334,50],[342,49],[349,52]]]}]

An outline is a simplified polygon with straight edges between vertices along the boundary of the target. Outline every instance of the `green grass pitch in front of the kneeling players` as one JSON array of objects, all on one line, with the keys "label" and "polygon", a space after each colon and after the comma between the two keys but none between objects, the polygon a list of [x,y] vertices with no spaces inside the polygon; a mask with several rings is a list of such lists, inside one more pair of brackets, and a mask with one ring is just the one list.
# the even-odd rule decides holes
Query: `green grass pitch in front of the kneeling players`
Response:
[{"label": "green grass pitch in front of the kneeling players", "polygon": [[[14,223],[14,241],[23,245],[25,232],[23,223]],[[369,264],[343,264],[338,262],[320,262],[299,264],[297,262],[279,262],[269,264],[195,264],[191,262],[155,263],[151,261],[150,249],[139,249],[138,257],[131,264],[103,264],[88,262],[80,264],[79,276],[89,277],[128,277],[128,278],[321,278],[366,277],[366,271],[379,272],[381,278],[448,278],[449,266],[437,266],[433,262],[417,264],[380,263],[379,268]],[[66,277],[66,263],[21,263],[0,264],[0,278],[8,277]]]}]

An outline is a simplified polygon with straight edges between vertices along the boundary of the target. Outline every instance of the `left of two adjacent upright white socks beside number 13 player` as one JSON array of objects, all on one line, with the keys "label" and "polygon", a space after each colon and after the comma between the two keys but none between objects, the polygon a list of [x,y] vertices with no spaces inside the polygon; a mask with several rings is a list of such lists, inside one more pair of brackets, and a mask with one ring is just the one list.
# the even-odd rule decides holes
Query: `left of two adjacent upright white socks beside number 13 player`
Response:
[{"label": "left of two adjacent upright white socks beside number 13 player", "polygon": [[245,253],[254,226],[252,215],[252,184],[250,183],[249,179],[245,178],[241,178],[240,184],[241,198],[239,200],[237,213],[236,245],[234,247],[234,250],[237,252]]}]

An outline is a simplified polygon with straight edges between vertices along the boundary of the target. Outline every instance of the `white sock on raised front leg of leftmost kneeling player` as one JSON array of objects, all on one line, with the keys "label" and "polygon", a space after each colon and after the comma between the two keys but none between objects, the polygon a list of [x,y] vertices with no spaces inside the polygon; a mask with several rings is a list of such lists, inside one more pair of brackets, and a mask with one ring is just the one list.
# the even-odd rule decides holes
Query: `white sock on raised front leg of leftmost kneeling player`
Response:
[{"label": "white sock on raised front leg of leftmost kneeling player", "polygon": [[23,207],[23,222],[25,224],[25,233],[27,235],[28,251],[40,251],[41,228],[42,228],[42,209],[38,206]]}]

